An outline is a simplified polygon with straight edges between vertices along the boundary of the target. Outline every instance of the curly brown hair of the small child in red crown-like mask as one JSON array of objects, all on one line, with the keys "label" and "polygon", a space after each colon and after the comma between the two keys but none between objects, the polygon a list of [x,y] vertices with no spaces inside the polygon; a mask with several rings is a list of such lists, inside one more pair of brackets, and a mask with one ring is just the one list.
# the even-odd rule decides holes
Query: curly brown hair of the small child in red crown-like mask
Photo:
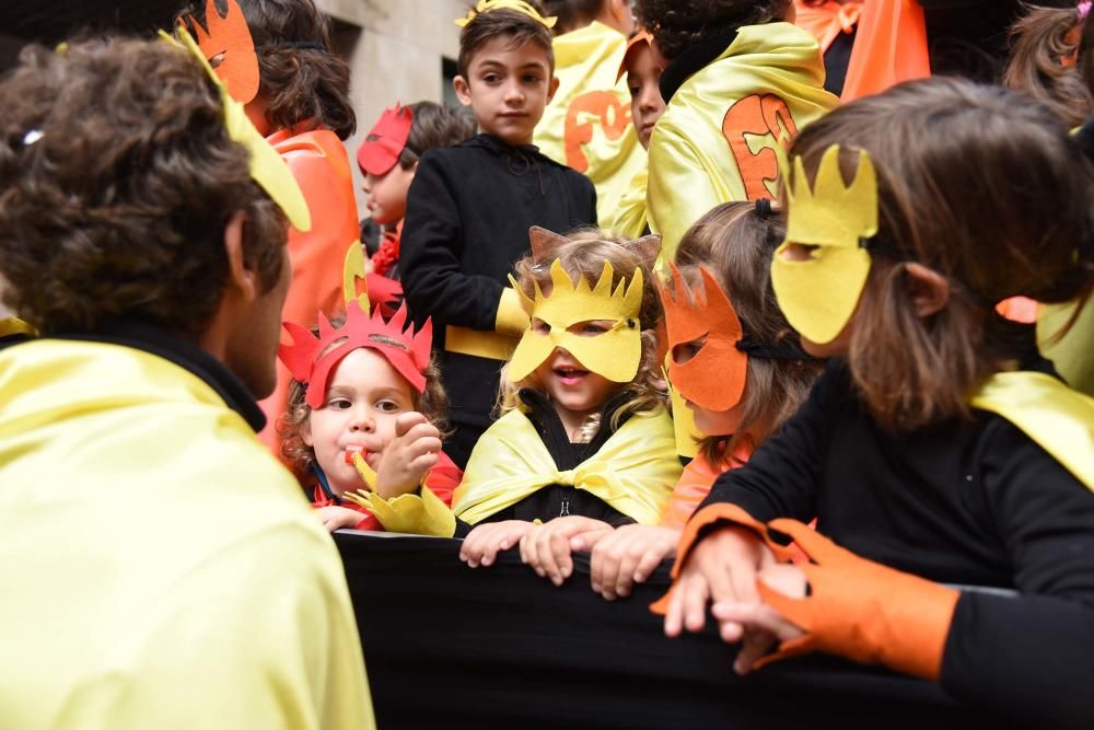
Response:
[{"label": "curly brown hair of the small child in red crown-like mask", "polygon": [[[330,324],[335,327],[340,327],[345,323],[345,315],[330,317]],[[313,335],[318,335],[318,332],[317,326],[312,327]],[[449,395],[444,392],[441,368],[437,364],[435,357],[430,358],[429,366],[422,374],[426,375],[424,392],[418,393],[411,389],[415,410],[435,426],[444,439],[449,436]],[[315,463],[315,450],[304,443],[304,429],[312,415],[312,407],[304,402],[306,394],[305,383],[295,379],[290,380],[289,401],[286,403],[284,413],[277,419],[277,432],[281,437],[281,455],[301,483],[312,478],[311,467]]]}]

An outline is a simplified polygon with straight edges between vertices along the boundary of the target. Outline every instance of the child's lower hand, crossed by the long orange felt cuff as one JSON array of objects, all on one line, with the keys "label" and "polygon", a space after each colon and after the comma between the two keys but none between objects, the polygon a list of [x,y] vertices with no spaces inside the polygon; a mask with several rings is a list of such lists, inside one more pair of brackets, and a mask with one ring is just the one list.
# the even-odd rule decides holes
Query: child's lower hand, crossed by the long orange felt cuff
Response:
[{"label": "child's lower hand, crossed by the long orange felt cuff", "polygon": [[[793,599],[805,598],[808,584],[802,569],[791,564],[768,565],[757,573],[757,580]],[[796,639],[805,634],[763,601],[759,603],[720,601],[710,611],[718,621],[734,623],[744,629],[741,650],[737,652],[736,661],[733,662],[733,670],[737,674],[747,674],[755,669],[756,662],[776,644]]]}]

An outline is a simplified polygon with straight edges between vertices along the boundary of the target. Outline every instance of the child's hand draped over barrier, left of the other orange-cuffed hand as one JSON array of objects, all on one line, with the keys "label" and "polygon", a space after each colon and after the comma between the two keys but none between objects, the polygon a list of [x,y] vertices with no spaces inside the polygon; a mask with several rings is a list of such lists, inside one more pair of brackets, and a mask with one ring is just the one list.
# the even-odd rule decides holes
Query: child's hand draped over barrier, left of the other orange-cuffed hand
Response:
[{"label": "child's hand draped over barrier, left of the other orange-cuffed hand", "polygon": [[[665,635],[684,629],[700,631],[707,623],[707,603],[759,603],[756,573],[775,564],[775,556],[756,533],[721,528],[694,544],[673,586],[665,613]],[[719,621],[719,634],[730,644],[744,629],[735,621]]]}]

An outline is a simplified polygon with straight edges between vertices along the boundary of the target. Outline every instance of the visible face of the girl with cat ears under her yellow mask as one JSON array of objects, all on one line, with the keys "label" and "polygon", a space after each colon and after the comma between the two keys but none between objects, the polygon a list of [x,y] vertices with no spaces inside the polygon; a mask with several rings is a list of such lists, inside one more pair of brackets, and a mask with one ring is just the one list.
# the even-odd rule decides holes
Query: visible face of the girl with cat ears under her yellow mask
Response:
[{"label": "visible face of the girl with cat ears under her yellow mask", "polygon": [[[580,322],[571,331],[581,331],[591,337],[612,328],[614,322],[597,320]],[[542,320],[533,320],[532,327],[547,327]],[[563,422],[581,422],[586,416],[598,413],[620,384],[590,371],[575,357],[556,347],[550,357],[535,370],[535,379],[550,398]]]}]

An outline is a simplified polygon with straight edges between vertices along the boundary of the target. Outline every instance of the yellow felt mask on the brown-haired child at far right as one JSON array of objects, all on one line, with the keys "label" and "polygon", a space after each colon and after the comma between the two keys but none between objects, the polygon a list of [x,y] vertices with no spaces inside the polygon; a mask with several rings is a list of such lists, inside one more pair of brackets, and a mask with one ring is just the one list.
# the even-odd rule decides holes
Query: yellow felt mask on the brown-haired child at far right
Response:
[{"label": "yellow felt mask on the brown-haired child at far right", "polygon": [[[780,169],[787,190],[787,240],[771,262],[771,286],[787,321],[817,344],[834,340],[854,313],[870,274],[863,242],[877,233],[877,176],[865,151],[850,186],[839,170],[839,146],[825,150],[810,188],[802,159],[791,173]],[[794,244],[816,246],[808,258],[793,259]]]}]

